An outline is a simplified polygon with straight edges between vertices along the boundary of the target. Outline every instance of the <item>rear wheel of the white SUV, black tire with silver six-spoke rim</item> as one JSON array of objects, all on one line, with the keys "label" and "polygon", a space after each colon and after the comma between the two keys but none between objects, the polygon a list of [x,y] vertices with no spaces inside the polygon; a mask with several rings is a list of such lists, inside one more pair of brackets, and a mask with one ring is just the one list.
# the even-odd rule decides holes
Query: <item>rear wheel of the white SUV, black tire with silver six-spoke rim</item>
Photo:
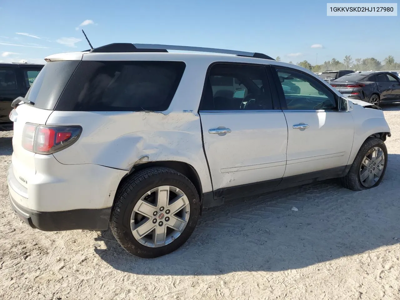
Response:
[{"label": "rear wheel of the white SUV, black tire with silver six-spoke rim", "polygon": [[148,168],[128,177],[118,189],[110,227],[130,254],[155,258],[188,240],[199,213],[198,192],[186,176],[170,168]]}]

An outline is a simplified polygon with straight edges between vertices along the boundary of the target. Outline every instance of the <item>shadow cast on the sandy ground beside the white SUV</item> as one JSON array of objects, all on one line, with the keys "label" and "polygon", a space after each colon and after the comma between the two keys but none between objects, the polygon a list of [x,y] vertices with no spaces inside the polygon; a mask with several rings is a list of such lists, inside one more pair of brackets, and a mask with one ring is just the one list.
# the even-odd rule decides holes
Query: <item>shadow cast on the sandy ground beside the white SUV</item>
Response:
[{"label": "shadow cast on the sandy ground beside the white SUV", "polygon": [[97,238],[106,249],[95,252],[134,274],[218,275],[303,268],[396,244],[400,155],[388,160],[384,180],[371,190],[354,192],[328,180],[205,210],[192,237],[160,258],[128,254],[110,230]]}]

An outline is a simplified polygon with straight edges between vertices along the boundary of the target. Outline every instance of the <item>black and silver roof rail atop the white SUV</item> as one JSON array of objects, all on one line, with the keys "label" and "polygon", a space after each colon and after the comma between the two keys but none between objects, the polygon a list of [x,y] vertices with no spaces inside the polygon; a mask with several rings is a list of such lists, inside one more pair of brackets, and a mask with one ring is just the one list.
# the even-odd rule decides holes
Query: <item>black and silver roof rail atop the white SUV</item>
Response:
[{"label": "black and silver roof rail atop the white SUV", "polygon": [[158,45],[158,44],[130,44],[130,43],[113,43],[94,48],[93,50],[86,50],[90,52],[168,52],[168,50],[181,50],[181,51],[196,51],[196,52],[212,52],[232,54],[236,56],[254,57],[274,60],[272,57],[258,53],[258,52],[245,52],[234,51],[226,49],[204,48],[204,47],[191,47],[191,46],[175,46],[175,45]]}]

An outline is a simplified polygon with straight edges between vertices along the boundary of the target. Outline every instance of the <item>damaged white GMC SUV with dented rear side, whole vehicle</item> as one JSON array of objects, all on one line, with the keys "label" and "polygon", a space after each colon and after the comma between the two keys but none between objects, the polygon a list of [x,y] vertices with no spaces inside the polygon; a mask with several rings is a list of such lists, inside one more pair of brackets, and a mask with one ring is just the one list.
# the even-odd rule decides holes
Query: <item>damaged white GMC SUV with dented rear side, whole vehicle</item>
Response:
[{"label": "damaged white GMC SUV with dented rear side, whole vehicle", "polygon": [[384,176],[382,110],[264,54],[110,44],[46,61],[10,115],[10,200],[33,228],[110,225],[152,258],[224,200],[339,177],[365,190]]}]

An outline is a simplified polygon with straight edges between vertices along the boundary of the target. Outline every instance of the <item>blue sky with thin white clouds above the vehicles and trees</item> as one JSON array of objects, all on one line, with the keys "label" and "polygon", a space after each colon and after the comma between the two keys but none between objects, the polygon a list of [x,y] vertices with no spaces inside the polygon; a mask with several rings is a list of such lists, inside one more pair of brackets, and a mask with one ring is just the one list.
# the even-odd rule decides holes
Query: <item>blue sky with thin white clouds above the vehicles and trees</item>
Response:
[{"label": "blue sky with thin white clouds above the vehicles and trees", "polygon": [[328,17],[326,2],[0,0],[0,62],[44,62],[50,54],[86,50],[82,28],[94,47],[177,44],[262,52],[295,63],[315,64],[317,54],[318,63],[345,55],[393,55],[400,62],[399,16]]}]

